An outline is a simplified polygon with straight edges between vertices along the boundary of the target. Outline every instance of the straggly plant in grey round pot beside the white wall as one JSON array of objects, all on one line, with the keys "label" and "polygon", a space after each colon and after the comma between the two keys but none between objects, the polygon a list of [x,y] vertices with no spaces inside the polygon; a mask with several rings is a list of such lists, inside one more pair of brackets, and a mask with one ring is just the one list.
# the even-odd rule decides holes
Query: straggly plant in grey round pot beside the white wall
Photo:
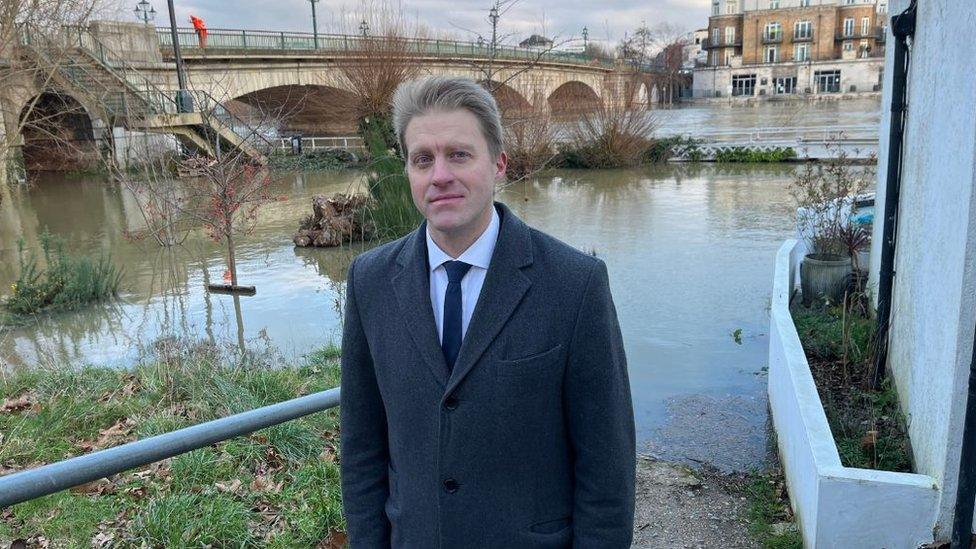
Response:
[{"label": "straggly plant in grey round pot beside the white wall", "polygon": [[797,204],[797,224],[807,243],[800,263],[802,302],[838,302],[854,268],[852,256],[865,245],[863,229],[852,224],[854,202],[874,173],[869,165],[852,164],[838,150],[823,163],[807,163],[793,178],[790,194]]}]

